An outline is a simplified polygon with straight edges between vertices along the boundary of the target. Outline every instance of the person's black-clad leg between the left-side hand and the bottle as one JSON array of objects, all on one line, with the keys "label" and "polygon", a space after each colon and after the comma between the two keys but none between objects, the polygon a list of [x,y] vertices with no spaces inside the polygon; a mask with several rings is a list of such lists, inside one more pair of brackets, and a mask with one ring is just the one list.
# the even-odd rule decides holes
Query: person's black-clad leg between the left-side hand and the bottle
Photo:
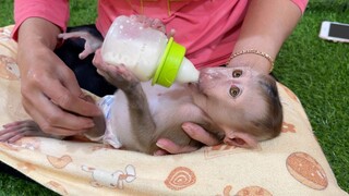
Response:
[{"label": "person's black-clad leg between the left-side hand and the bottle", "polygon": [[[67,32],[88,32],[103,40],[103,36],[95,25],[69,27]],[[105,78],[97,73],[96,68],[92,63],[94,54],[89,54],[83,60],[79,58],[79,53],[84,50],[84,45],[85,40],[81,38],[67,39],[55,52],[72,69],[82,88],[100,97],[112,95],[116,87],[107,83]]]}]

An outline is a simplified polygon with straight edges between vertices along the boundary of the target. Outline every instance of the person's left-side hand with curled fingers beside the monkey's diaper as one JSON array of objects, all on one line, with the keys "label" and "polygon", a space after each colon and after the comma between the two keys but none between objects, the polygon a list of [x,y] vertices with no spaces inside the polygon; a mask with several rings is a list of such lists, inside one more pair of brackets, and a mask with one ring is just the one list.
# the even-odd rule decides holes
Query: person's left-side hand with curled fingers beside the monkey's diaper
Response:
[{"label": "person's left-side hand with curled fingers beside the monkey's diaper", "polygon": [[[25,45],[25,44],[22,44]],[[75,135],[93,127],[98,107],[83,99],[73,72],[45,46],[19,47],[22,103],[43,132]]]}]

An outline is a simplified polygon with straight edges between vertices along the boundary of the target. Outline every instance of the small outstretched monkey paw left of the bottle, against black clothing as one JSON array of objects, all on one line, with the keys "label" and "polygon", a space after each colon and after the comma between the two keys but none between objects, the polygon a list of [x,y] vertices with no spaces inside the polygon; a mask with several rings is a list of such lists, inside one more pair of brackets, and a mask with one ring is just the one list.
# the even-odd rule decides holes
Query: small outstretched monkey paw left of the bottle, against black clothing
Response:
[{"label": "small outstretched monkey paw left of the bottle, against black clothing", "polygon": [[101,47],[103,41],[87,32],[71,32],[59,34],[58,38],[71,39],[71,38],[82,38],[85,39],[85,49],[79,54],[80,59],[85,59],[87,56],[94,53],[98,48]]}]

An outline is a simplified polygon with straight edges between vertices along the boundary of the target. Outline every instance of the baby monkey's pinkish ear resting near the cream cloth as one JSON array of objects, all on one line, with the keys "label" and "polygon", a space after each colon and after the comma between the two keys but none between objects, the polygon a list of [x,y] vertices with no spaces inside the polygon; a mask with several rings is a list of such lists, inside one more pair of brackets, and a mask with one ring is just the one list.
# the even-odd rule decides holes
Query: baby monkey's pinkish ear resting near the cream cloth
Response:
[{"label": "baby monkey's pinkish ear resting near the cream cloth", "polygon": [[230,132],[229,135],[226,135],[224,143],[241,148],[260,148],[257,139],[253,135],[243,132]]}]

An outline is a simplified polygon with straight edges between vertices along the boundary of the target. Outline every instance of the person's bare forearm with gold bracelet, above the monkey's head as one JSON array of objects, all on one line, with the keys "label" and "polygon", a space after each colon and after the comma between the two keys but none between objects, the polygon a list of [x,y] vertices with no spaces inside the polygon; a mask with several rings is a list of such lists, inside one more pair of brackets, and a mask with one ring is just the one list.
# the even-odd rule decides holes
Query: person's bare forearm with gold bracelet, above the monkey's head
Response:
[{"label": "person's bare forearm with gold bracelet, above the monkey's head", "polygon": [[[274,60],[301,15],[301,10],[290,0],[251,1],[232,53],[255,49],[267,53]],[[254,53],[238,56],[228,64],[241,65],[251,66],[265,74],[268,74],[272,68],[266,58]]]}]

